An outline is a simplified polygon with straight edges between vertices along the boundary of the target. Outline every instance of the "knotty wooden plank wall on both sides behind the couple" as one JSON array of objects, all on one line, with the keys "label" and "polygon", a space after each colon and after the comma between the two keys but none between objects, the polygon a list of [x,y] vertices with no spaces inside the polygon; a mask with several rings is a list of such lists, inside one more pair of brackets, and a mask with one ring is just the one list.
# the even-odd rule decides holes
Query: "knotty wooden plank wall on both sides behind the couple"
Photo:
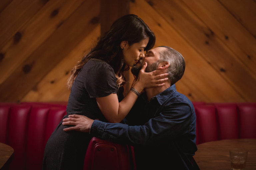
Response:
[{"label": "knotty wooden plank wall on both sides behind the couple", "polygon": [[[192,101],[256,102],[255,0],[131,0],[185,58]],[[67,101],[71,68],[100,36],[100,0],[0,1],[0,101]]]}]

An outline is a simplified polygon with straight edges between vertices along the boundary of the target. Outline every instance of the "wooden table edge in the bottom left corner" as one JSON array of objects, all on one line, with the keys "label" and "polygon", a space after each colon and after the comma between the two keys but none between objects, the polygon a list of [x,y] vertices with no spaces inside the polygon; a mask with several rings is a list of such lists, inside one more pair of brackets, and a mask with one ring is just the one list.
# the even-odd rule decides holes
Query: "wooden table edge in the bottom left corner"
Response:
[{"label": "wooden table edge in the bottom left corner", "polygon": [[4,143],[0,143],[0,169],[3,167],[5,162],[12,156],[13,148]]}]

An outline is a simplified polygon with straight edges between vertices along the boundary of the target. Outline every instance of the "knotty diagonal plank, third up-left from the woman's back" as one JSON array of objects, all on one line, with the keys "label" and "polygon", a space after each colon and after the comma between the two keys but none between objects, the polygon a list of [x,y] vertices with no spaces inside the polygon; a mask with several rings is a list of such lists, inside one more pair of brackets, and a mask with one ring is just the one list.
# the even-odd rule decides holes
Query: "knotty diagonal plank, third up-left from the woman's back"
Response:
[{"label": "knotty diagonal plank, third up-left from the woman's back", "polygon": [[[0,84],[24,62],[65,20],[84,2],[83,0],[54,0],[48,2],[23,27],[18,42],[9,40],[1,49],[4,58],[0,63]],[[14,36],[15,37],[15,36]]]}]

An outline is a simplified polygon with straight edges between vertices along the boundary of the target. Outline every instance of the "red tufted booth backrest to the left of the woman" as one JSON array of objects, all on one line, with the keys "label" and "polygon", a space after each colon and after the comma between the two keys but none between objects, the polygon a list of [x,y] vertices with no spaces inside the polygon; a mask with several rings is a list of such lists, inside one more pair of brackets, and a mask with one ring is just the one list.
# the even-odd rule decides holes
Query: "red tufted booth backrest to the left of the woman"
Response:
[{"label": "red tufted booth backrest to the left of the woman", "polygon": [[9,169],[42,169],[44,146],[66,114],[66,104],[1,103],[0,142],[14,149]]}]

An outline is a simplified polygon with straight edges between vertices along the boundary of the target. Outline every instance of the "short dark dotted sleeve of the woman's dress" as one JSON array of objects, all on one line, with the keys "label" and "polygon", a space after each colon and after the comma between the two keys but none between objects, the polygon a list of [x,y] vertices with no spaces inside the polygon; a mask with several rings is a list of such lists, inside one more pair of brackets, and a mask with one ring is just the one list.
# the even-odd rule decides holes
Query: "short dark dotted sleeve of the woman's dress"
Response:
[{"label": "short dark dotted sleeve of the woman's dress", "polygon": [[84,86],[89,96],[105,97],[117,93],[116,76],[113,68],[104,61],[87,62]]}]

